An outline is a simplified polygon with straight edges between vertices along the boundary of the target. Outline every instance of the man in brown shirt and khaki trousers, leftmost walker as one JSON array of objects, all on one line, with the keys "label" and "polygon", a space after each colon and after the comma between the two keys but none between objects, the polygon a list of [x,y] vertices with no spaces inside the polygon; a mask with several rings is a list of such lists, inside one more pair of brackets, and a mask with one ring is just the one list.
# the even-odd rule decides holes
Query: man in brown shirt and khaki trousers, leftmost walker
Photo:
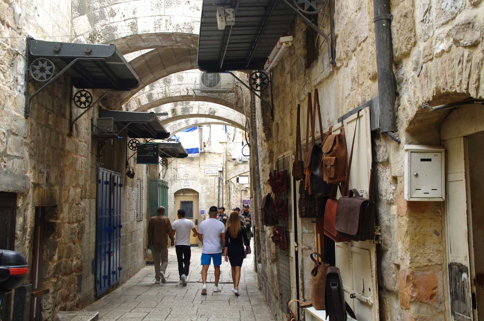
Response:
[{"label": "man in brown shirt and khaki trousers, leftmost walker", "polygon": [[[175,244],[171,233],[170,219],[165,216],[165,207],[158,206],[156,209],[156,216],[153,216],[148,221],[148,244],[146,248],[150,248],[153,244],[153,261],[154,261],[154,283],[159,284],[166,282],[165,271],[168,265],[168,236],[171,240],[171,245]],[[161,266],[160,266],[161,263]]]}]

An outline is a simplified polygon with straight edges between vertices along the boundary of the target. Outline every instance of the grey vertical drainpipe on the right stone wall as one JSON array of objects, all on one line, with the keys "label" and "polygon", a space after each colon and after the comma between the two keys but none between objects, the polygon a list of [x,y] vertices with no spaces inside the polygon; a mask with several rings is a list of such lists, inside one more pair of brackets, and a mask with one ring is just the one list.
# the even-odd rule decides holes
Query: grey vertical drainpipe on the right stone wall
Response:
[{"label": "grey vertical drainpipe on the right stone wall", "polygon": [[396,131],[390,0],[374,0],[380,131]]}]

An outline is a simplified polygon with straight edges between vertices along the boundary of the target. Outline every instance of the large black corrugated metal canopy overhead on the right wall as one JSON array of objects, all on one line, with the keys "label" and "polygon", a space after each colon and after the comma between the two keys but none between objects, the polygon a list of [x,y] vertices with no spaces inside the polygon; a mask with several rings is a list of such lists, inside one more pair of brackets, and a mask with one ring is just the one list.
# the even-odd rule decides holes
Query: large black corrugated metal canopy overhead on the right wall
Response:
[{"label": "large black corrugated metal canopy overhead on the right wall", "polygon": [[[218,7],[235,9],[235,25],[217,27]],[[263,70],[294,11],[283,0],[203,0],[198,68],[208,72]]]}]

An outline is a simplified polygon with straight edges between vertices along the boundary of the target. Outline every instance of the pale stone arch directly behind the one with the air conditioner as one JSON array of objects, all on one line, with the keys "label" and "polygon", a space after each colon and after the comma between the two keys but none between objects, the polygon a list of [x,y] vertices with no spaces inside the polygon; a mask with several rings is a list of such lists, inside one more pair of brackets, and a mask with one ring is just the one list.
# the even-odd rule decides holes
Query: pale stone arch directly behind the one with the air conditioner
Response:
[{"label": "pale stone arch directly behind the one with the air conditioner", "polygon": [[168,113],[168,116],[159,117],[162,125],[166,126],[168,126],[171,122],[187,118],[212,118],[227,122],[232,126],[245,126],[245,116],[242,113],[239,113],[232,108],[214,103],[170,103],[153,108],[150,111],[155,113]]}]

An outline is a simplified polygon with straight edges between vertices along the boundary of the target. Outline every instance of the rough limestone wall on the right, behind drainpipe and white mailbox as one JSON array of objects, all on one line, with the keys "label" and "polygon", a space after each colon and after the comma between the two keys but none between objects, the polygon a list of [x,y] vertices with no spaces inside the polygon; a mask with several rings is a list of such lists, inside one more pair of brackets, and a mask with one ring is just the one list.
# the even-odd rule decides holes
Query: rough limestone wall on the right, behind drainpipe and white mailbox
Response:
[{"label": "rough limestone wall on the right, behind drainpipe and white mailbox", "polygon": [[[318,88],[324,129],[378,95],[373,1],[335,2],[336,65],[328,61],[325,42],[320,43],[317,60],[308,65],[306,25],[296,18],[287,31],[295,40],[273,73],[274,122],[269,110],[258,105],[262,195],[270,191],[266,179],[277,155],[287,150],[294,153],[296,106],[301,103],[305,116],[308,92]],[[403,200],[402,145],[440,145],[439,124],[446,114],[423,110],[423,102],[438,105],[469,96],[484,97],[483,10],[481,1],[391,1],[397,134],[402,143],[379,131],[373,134],[378,163],[377,220],[383,240],[378,246],[381,320],[443,320],[449,316],[441,204]],[[322,21],[321,15],[318,21]],[[308,256],[316,248],[315,226],[306,219],[298,224],[299,278],[302,299],[307,300],[313,265]],[[270,259],[273,248],[270,233],[264,232],[259,236],[265,253],[261,264],[267,268],[258,273],[261,279],[269,279],[268,271],[274,268]],[[277,300],[277,286],[263,288],[271,301]]]}]

